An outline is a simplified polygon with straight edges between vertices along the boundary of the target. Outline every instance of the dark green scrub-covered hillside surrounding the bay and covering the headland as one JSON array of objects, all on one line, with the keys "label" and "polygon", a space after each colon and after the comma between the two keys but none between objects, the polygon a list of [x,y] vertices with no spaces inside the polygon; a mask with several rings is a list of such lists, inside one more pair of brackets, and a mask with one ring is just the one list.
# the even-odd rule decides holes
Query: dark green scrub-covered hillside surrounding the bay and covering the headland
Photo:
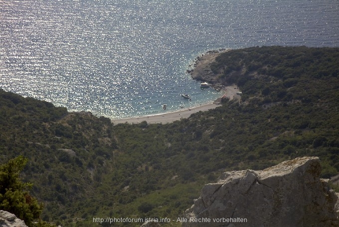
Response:
[{"label": "dark green scrub-covered hillside surrounding the bay and covering the headland", "polygon": [[21,179],[45,204],[41,218],[63,227],[176,220],[222,172],[300,156],[320,157],[323,178],[338,173],[339,48],[251,47],[210,67],[241,100],[164,125],[112,125],[1,90],[0,162],[29,159]]}]

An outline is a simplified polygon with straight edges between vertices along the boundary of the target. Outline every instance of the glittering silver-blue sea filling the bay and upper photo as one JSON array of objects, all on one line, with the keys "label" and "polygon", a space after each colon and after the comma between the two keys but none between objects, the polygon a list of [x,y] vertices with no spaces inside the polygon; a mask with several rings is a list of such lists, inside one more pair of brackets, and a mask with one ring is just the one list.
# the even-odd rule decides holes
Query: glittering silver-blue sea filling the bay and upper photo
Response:
[{"label": "glittering silver-blue sea filling the bay and upper photo", "polygon": [[112,119],[177,111],[222,95],[186,73],[197,56],[338,47],[338,12],[338,0],[0,0],[0,88]]}]

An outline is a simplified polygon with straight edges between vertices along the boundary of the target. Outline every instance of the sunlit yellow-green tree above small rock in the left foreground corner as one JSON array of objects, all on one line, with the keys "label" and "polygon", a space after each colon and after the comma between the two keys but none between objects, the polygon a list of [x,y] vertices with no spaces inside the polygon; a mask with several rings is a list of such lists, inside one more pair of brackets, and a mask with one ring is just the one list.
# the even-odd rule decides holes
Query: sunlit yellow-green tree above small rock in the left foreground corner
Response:
[{"label": "sunlit yellow-green tree above small rock in the left foreground corner", "polygon": [[[19,178],[28,159],[18,156],[0,165],[0,210],[8,211],[23,220],[28,227],[34,227],[43,205],[29,195],[30,183]],[[38,222],[40,226],[43,224]]]}]

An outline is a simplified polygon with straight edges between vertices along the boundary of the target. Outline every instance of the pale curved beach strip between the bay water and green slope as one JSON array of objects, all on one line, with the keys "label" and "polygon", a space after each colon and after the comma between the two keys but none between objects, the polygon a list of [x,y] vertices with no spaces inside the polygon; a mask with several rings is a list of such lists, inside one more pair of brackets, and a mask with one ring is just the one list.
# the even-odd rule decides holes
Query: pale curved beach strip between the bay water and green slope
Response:
[{"label": "pale curved beach strip between the bay water and green slope", "polygon": [[[223,96],[228,97],[230,100],[232,100],[233,98],[240,98],[240,96],[236,94],[238,91],[239,90],[235,85],[228,86],[225,88]],[[214,103],[207,103],[207,104],[203,104],[203,105],[188,108],[188,109],[179,110],[176,112],[169,112],[169,113],[151,115],[151,116],[146,116],[146,117],[112,119],[111,121],[115,125],[120,124],[120,123],[138,124],[138,123],[141,123],[142,121],[147,121],[147,123],[149,124],[156,124],[156,123],[166,124],[166,123],[171,123],[173,121],[177,121],[183,118],[188,118],[191,114],[197,113],[199,111],[207,111],[209,109],[214,109],[217,106],[219,105],[214,102]]]}]

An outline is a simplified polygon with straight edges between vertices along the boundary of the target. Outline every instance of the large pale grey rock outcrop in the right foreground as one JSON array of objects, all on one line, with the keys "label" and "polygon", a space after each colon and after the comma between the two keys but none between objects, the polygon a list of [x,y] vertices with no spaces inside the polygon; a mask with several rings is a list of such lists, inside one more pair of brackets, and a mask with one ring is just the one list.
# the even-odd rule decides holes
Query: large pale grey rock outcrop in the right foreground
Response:
[{"label": "large pale grey rock outcrop in the right foreground", "polygon": [[203,187],[183,227],[338,227],[339,194],[320,172],[317,157],[226,172]]}]

